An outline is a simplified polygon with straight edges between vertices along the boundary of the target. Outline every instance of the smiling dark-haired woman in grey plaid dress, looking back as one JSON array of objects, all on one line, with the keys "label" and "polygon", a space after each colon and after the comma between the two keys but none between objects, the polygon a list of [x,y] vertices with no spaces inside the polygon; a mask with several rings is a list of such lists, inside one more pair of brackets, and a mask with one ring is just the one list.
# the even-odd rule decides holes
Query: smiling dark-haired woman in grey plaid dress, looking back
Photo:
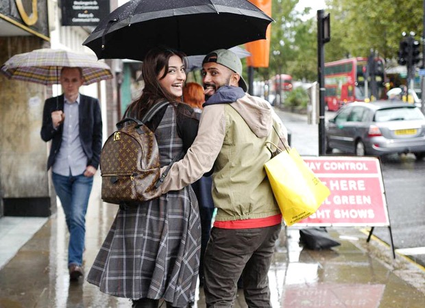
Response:
[{"label": "smiling dark-haired woman in grey plaid dress, looking back", "polygon": [[[146,123],[155,131],[161,166],[168,166],[191,146],[198,120],[180,103],[186,80],[184,54],[155,48],[143,61],[145,88],[126,114],[142,118],[167,100]],[[182,157],[182,156],[181,156]],[[88,274],[101,292],[131,298],[132,307],[188,307],[195,301],[201,228],[191,186],[138,206],[121,207]]]}]

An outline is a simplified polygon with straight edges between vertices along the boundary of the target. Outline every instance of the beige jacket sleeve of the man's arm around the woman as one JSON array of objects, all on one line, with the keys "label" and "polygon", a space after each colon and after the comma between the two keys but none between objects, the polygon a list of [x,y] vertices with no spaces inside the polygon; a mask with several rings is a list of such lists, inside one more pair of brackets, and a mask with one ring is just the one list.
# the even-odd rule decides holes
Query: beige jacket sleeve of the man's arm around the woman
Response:
[{"label": "beige jacket sleeve of the man's arm around the woman", "polygon": [[[225,104],[204,107],[195,141],[179,162],[171,166],[160,190],[181,190],[213,168],[226,133]],[[166,168],[166,167],[165,167]]]}]

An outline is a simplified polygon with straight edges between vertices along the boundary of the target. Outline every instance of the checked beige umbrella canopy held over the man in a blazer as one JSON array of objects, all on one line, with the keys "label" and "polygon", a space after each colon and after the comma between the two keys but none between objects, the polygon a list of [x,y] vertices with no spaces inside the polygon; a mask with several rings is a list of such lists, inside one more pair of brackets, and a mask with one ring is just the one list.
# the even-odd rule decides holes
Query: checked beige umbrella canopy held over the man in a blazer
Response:
[{"label": "checked beige umbrella canopy held over the man in a blazer", "polygon": [[1,73],[9,79],[60,84],[60,70],[64,66],[81,67],[84,85],[113,77],[108,64],[97,61],[95,55],[75,53],[62,49],[36,49],[14,55],[1,66]]}]

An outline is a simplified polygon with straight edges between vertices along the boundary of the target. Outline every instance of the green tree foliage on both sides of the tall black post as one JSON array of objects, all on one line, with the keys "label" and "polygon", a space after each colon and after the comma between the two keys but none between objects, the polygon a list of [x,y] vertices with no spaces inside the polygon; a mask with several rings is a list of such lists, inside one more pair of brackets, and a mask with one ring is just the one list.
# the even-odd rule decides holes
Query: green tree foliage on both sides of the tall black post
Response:
[{"label": "green tree foliage on both sides of the tall black post", "polygon": [[[295,11],[298,0],[271,0],[269,68],[258,68],[256,79],[278,73],[294,80],[317,80],[317,18],[310,10]],[[367,57],[378,51],[387,62],[397,57],[402,32],[423,31],[424,0],[325,0],[330,13],[330,42],[325,44],[325,62],[345,57]]]}]

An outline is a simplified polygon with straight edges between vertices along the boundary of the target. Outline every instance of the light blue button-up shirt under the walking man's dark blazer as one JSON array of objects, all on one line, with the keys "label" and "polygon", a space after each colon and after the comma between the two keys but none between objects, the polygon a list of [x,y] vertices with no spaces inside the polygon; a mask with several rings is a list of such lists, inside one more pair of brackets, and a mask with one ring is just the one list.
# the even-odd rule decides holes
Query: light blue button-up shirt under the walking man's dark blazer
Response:
[{"label": "light blue button-up shirt under the walking man's dark blazer", "polygon": [[80,142],[79,112],[80,94],[74,102],[64,98],[64,127],[62,131],[62,142],[52,171],[58,175],[68,177],[69,175],[82,175],[86,170],[87,156]]}]

